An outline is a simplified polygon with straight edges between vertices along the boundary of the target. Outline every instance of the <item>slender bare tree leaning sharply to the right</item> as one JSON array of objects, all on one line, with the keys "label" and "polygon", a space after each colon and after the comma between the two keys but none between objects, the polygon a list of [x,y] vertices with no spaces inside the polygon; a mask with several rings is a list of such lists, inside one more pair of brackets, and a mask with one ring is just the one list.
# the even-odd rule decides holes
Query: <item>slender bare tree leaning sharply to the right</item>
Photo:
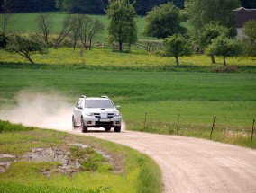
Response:
[{"label": "slender bare tree leaning sharply to the right", "polygon": [[55,49],[57,49],[59,47],[59,44],[69,35],[69,32],[71,31],[71,23],[72,17],[70,15],[64,18],[62,22],[62,29],[59,32],[59,36],[54,43]]}]

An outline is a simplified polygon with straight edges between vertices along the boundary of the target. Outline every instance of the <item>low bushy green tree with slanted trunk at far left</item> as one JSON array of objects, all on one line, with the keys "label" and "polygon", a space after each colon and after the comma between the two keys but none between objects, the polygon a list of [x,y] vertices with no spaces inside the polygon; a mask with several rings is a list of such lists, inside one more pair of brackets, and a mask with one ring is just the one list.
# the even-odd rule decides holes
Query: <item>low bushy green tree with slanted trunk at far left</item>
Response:
[{"label": "low bushy green tree with slanted trunk at far left", "polygon": [[22,37],[21,35],[14,34],[8,42],[7,50],[17,53],[22,57],[28,59],[33,65],[34,62],[31,58],[33,54],[47,54],[48,50],[41,45],[41,42],[35,37]]}]

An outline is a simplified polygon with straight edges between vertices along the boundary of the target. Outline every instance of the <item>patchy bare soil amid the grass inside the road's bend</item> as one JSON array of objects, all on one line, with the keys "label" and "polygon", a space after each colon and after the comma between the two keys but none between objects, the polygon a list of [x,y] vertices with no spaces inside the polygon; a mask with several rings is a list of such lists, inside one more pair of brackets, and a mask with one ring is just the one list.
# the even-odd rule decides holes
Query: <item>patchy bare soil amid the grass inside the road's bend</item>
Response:
[{"label": "patchy bare soil amid the grass inside the road's bend", "polygon": [[[53,173],[65,174],[72,176],[73,174],[83,171],[81,160],[70,156],[70,147],[78,146],[79,148],[89,148],[88,145],[72,143],[59,147],[50,148],[32,148],[32,151],[23,155],[0,154],[0,173],[8,170],[12,162],[27,161],[27,162],[59,162],[56,168],[41,169],[40,173],[47,178]],[[113,165],[113,171],[119,173],[123,171],[123,154],[105,154],[103,151],[95,150],[102,154],[105,162]]]}]

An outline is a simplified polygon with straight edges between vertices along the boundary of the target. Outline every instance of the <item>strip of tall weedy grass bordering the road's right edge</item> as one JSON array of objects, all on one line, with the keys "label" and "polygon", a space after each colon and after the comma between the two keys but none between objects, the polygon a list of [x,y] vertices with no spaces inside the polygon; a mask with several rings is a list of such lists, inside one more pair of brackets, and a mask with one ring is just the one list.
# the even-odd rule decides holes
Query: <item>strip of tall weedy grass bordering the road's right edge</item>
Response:
[{"label": "strip of tall weedy grass bordering the road's right edge", "polygon": [[254,135],[251,140],[252,120],[245,122],[247,122],[247,126],[231,126],[222,125],[219,123],[218,119],[216,119],[215,126],[213,127],[213,118],[212,120],[209,118],[208,123],[196,121],[188,123],[180,119],[179,122],[178,120],[176,120],[176,122],[128,120],[126,121],[126,127],[133,131],[164,135],[193,136],[256,149],[256,136]]}]

